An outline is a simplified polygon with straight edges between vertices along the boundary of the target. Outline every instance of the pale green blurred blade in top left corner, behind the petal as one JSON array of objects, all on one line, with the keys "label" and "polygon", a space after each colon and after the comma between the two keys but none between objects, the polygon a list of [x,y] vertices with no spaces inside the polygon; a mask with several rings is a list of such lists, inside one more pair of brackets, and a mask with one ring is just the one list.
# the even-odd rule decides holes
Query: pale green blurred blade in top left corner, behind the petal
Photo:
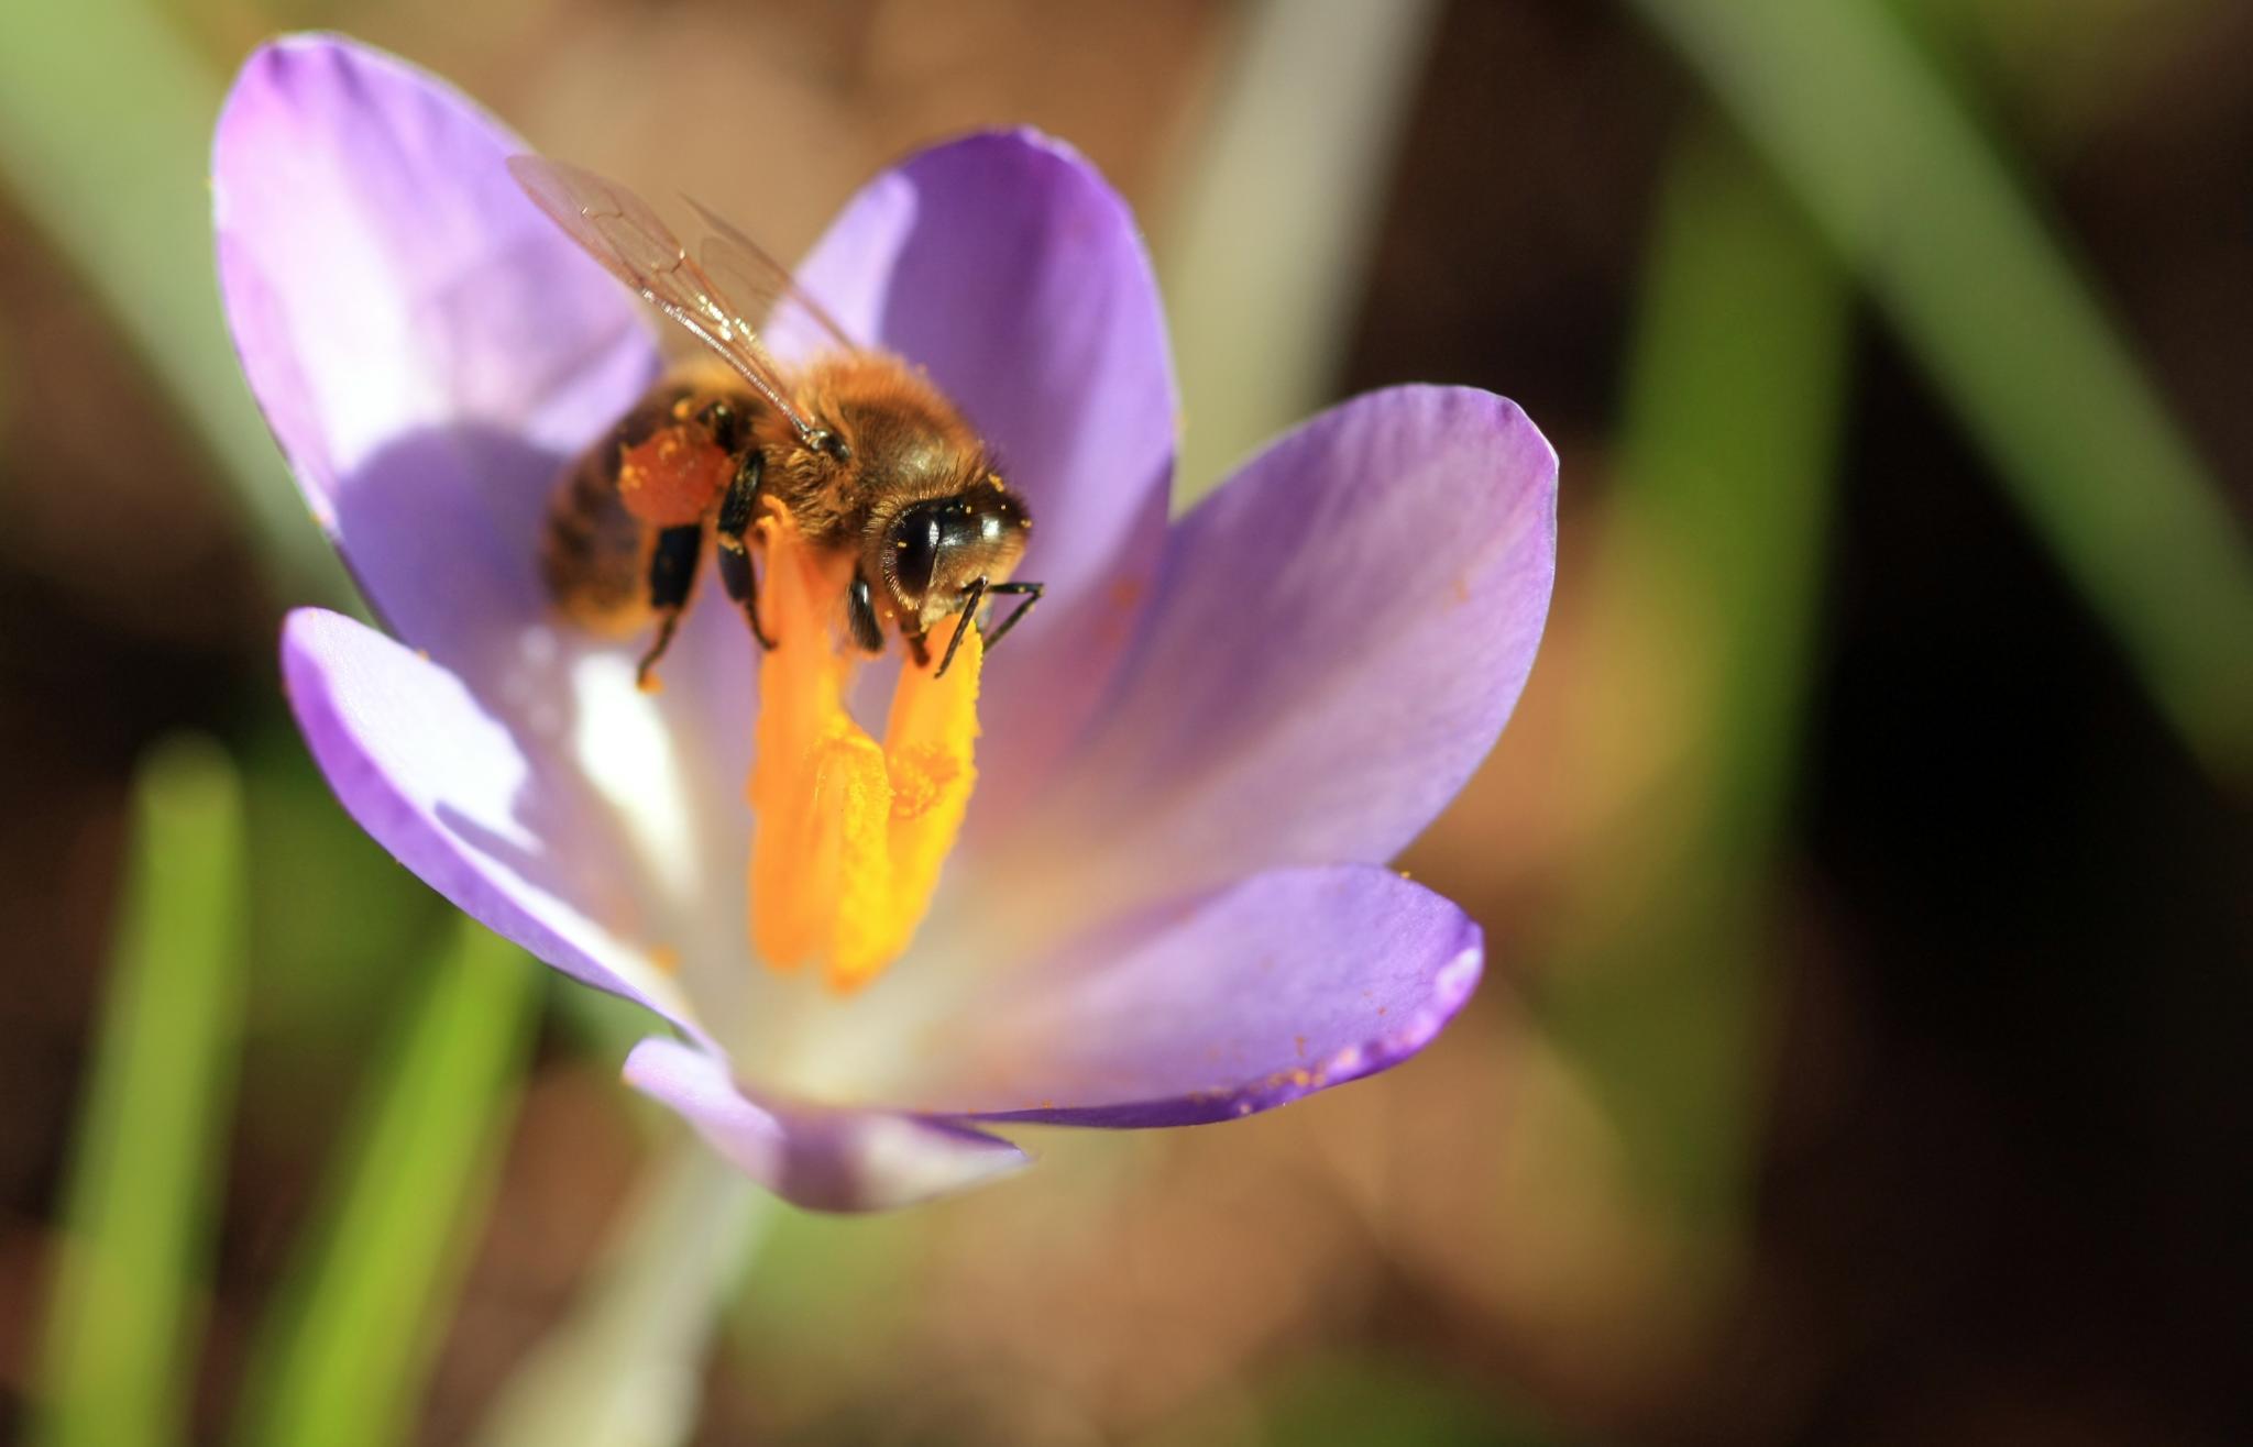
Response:
[{"label": "pale green blurred blade in top left corner, behind the petal", "polygon": [[0,5],[0,187],[171,394],[291,587],[349,596],[221,322],[210,198],[221,90],[146,0]]}]

